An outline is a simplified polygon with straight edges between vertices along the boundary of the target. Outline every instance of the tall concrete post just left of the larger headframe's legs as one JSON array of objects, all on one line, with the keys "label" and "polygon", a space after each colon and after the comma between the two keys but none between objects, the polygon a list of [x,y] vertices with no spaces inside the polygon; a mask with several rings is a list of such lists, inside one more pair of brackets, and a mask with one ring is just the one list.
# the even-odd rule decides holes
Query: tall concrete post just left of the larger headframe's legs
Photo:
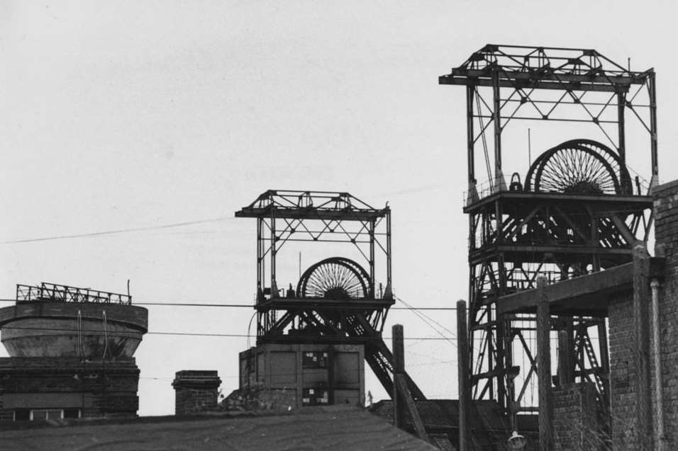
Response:
[{"label": "tall concrete post just left of the larger headframe's legs", "polygon": [[459,379],[459,450],[468,451],[470,443],[469,407],[469,332],[466,302],[457,301],[457,379]]}]

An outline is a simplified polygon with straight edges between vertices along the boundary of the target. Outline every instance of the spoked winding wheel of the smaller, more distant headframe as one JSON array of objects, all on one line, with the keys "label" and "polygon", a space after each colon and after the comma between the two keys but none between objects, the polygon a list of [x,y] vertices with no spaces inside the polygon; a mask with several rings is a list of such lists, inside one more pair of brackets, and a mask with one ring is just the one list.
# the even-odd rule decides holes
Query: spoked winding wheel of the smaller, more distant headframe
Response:
[{"label": "spoked winding wheel of the smaller, more distant headframe", "polygon": [[326,258],[301,275],[296,292],[300,297],[361,299],[369,295],[369,274],[348,258]]}]

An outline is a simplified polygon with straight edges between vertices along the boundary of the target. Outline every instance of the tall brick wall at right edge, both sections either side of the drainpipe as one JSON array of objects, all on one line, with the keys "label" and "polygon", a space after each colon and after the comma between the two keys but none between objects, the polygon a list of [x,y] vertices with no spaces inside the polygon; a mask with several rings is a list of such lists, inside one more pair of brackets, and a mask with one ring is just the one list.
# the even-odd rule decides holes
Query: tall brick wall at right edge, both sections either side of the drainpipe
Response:
[{"label": "tall brick wall at right edge, both sections either side of the drainpipe", "polygon": [[[652,190],[655,214],[655,256],[664,258],[660,282],[660,358],[662,373],[662,402],[665,424],[664,449],[678,449],[678,181],[657,186]],[[653,276],[642,279],[642,290],[648,290]],[[639,279],[639,280],[641,280]],[[634,283],[637,285],[638,280]],[[647,285],[647,286],[645,286]],[[634,285],[636,291],[638,286]],[[655,365],[652,343],[651,299],[643,298],[642,308],[648,309],[643,330],[649,331],[648,367],[651,381],[649,399],[652,427],[657,428],[660,413],[654,401]],[[640,430],[638,412],[648,399],[638,395],[641,381],[641,360],[645,353],[635,336],[633,293],[613,299],[609,308],[611,413],[614,450],[644,450],[656,447],[652,430]],[[646,341],[647,342],[647,341]],[[640,351],[639,351],[640,349]],[[641,357],[642,359],[642,357]]]}]

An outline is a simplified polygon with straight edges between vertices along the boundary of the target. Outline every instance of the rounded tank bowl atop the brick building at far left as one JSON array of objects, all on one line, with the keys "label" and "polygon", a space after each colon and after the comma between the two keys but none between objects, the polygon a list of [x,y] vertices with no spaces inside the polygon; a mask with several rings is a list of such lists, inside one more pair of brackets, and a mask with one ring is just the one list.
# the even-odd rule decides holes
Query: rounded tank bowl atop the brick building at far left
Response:
[{"label": "rounded tank bowl atop the brick building at far left", "polygon": [[124,304],[18,301],[0,309],[11,357],[131,358],[148,331],[148,310]]}]

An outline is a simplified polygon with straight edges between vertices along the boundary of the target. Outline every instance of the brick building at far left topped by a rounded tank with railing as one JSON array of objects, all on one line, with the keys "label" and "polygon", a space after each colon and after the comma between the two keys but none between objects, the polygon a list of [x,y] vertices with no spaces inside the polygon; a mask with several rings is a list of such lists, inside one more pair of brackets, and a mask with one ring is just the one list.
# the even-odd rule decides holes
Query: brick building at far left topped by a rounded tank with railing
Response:
[{"label": "brick building at far left topped by a rounded tank with railing", "polygon": [[43,283],[0,309],[0,420],[137,415],[133,354],[148,311],[125,295]]}]

